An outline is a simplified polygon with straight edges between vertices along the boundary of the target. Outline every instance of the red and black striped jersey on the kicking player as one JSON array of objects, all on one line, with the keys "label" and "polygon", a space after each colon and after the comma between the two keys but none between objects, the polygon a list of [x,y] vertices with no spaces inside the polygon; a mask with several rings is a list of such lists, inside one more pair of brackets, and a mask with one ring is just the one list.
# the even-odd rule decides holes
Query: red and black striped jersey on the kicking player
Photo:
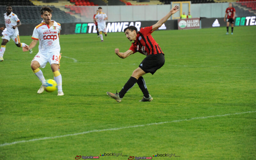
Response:
[{"label": "red and black striped jersey on the kicking player", "polygon": [[[151,36],[152,26],[141,28],[137,33],[136,40],[132,43],[130,50],[140,52],[148,56],[149,54],[163,53],[155,39]],[[164,54],[164,53],[163,53]]]}]

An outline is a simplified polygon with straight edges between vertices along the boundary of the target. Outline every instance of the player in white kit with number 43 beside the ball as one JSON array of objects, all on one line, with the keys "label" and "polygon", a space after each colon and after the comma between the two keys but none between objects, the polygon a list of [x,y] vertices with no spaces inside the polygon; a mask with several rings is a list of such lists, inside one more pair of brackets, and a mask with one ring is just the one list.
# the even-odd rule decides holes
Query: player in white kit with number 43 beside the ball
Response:
[{"label": "player in white kit with number 43 beside the ball", "polygon": [[[37,25],[34,29],[32,39],[33,41],[25,47],[22,47],[23,52],[28,51],[36,46],[39,40],[38,53],[31,61],[31,68],[38,79],[44,83],[43,72],[39,67],[44,68],[49,62],[51,64],[54,80],[57,82],[58,96],[63,96],[62,92],[62,78],[60,74],[60,23],[51,20],[52,9],[50,7],[44,6],[40,10],[41,17],[43,18],[42,23]],[[44,87],[41,85],[40,89],[37,91],[38,94],[44,92]]]}]

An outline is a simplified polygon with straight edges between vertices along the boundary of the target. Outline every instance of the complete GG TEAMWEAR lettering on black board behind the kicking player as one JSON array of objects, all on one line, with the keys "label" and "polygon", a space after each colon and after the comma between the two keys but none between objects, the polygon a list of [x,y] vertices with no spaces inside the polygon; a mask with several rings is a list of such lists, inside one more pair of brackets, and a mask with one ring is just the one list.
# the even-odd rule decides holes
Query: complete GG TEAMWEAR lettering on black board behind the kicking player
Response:
[{"label": "complete GG TEAMWEAR lettering on black board behind the kicking player", "polygon": [[[123,32],[128,26],[135,26],[140,31],[141,22],[108,22],[106,32]],[[97,30],[94,23],[77,23],[75,33],[97,33]]]}]

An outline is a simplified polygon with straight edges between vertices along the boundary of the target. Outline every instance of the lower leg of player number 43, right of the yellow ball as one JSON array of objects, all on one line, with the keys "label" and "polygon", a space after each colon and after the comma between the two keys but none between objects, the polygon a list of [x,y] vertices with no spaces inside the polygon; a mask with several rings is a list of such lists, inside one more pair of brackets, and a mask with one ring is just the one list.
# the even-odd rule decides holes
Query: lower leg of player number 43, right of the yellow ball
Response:
[{"label": "lower leg of player number 43, right of the yellow ball", "polygon": [[57,87],[58,87],[58,96],[63,96],[64,93],[62,91],[62,77],[59,71],[59,64],[51,64],[52,68],[52,73],[54,76],[54,80],[57,82]]}]

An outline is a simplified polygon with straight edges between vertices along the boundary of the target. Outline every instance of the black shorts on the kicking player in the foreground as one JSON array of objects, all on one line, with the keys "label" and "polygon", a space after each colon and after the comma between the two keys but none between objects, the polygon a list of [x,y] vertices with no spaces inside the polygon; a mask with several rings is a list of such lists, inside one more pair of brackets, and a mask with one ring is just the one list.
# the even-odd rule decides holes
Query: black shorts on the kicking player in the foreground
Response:
[{"label": "black shorts on the kicking player in the foreground", "polygon": [[150,54],[142,62],[139,67],[146,73],[151,73],[152,75],[157,69],[164,65],[164,54]]}]

